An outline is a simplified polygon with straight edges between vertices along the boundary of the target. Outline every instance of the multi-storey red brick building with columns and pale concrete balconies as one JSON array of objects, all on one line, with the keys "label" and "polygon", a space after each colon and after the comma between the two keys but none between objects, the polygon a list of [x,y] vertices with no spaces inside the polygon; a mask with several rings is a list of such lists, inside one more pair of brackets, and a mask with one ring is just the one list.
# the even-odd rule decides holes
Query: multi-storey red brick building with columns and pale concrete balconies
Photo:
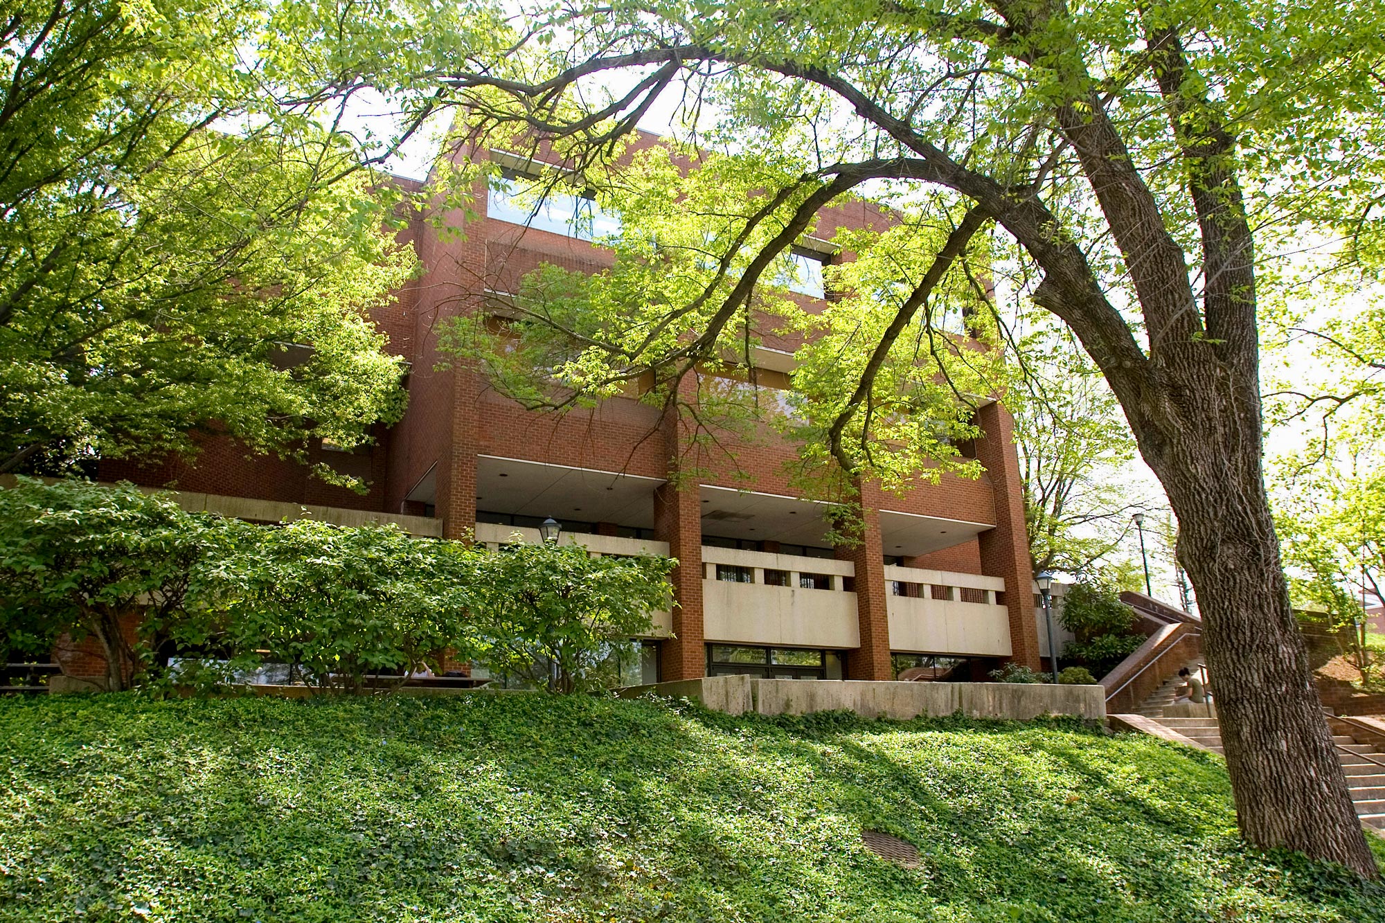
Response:
[{"label": "multi-storey red brick building with columns and pale concrete balconies", "polygon": [[[506,157],[507,166],[524,169]],[[985,435],[974,450],[986,468],[979,480],[945,475],[906,496],[866,485],[864,540],[837,549],[824,538],[823,506],[789,485],[792,448],[770,435],[735,446],[734,464],[704,460],[698,467],[711,475],[674,484],[684,434],[672,414],[629,398],[562,417],[533,414],[479,374],[438,367],[446,356],[436,331],[449,317],[486,310],[540,263],[611,263],[565,218],[587,206],[560,200],[530,215],[497,186],[478,188],[474,220],[442,215],[464,236],[411,223],[406,236],[424,273],[375,317],[391,351],[411,363],[409,410],[397,425],[381,427],[368,449],[312,449],[313,463],[366,480],[366,495],[324,485],[302,466],[249,457],[227,439],[208,441],[194,463],[107,461],[101,480],[212,495],[216,509],[242,498],[360,510],[425,535],[475,529],[486,543],[515,531],[533,538],[553,517],[564,540],[594,553],[672,554],[677,604],[645,644],[645,680],[709,672],[893,679],[956,658],[976,679],[1007,658],[1039,667],[1012,421],[999,403],[978,414]],[[587,219],[597,227],[605,220]],[[830,238],[837,227],[881,219],[868,204],[850,202],[825,209],[816,233]],[[809,308],[823,297],[814,261],[831,258],[813,244],[805,241],[796,256],[796,298]],[[794,346],[766,338],[755,359],[760,385],[788,387]]]}]

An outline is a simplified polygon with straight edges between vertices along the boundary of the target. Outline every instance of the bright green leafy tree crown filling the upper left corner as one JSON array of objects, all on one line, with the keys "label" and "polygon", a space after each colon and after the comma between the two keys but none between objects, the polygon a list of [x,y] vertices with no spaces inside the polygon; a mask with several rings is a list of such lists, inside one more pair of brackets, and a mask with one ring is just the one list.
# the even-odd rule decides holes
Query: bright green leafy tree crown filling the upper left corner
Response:
[{"label": "bright green leafy tree crown filling the upper left corner", "polygon": [[382,139],[346,116],[424,40],[388,4],[355,11],[324,29],[301,1],[6,6],[0,471],[187,452],[197,428],[302,456],[397,419],[403,367],[367,312],[413,255],[371,168],[429,104]]}]

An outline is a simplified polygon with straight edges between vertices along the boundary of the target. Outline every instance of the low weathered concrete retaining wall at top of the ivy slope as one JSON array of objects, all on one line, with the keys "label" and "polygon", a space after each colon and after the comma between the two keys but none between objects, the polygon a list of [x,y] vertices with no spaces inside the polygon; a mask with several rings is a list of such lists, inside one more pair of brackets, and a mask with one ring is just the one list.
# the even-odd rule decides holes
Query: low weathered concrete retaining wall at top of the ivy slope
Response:
[{"label": "low weathered concrete retaining wall at top of the ivy slope", "polygon": [[740,715],[806,715],[816,711],[855,711],[866,718],[943,717],[1028,721],[1040,715],[1079,715],[1105,721],[1101,686],[1050,683],[899,683],[837,679],[756,679],[709,676],[619,690],[626,698],[647,692],[687,697],[708,708]]}]

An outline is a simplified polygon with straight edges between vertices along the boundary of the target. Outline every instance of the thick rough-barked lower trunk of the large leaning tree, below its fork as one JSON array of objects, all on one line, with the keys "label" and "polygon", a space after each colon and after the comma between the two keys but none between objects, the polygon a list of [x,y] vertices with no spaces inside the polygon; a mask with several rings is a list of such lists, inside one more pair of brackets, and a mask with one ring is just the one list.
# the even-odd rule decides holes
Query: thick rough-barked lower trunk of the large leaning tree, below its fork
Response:
[{"label": "thick rough-barked lower trunk of the large leaning tree, below its fork", "polygon": [[[1173,359],[1163,383],[1181,425],[1144,428],[1137,438],[1179,517],[1179,557],[1204,618],[1241,834],[1375,877],[1289,607],[1265,492],[1255,383],[1234,381],[1206,344],[1187,344]],[[1252,402],[1256,425],[1248,425]]]}]

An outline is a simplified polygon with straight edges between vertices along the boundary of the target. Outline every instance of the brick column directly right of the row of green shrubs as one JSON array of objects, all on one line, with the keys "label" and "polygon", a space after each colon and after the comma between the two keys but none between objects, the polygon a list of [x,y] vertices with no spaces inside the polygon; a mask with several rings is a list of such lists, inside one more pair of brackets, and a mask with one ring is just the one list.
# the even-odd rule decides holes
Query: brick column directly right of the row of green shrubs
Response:
[{"label": "brick column directly right of the row of green shrubs", "polygon": [[702,503],[695,484],[654,491],[654,536],[679,559],[673,582],[673,639],[659,644],[659,679],[706,675],[702,640]]}]

